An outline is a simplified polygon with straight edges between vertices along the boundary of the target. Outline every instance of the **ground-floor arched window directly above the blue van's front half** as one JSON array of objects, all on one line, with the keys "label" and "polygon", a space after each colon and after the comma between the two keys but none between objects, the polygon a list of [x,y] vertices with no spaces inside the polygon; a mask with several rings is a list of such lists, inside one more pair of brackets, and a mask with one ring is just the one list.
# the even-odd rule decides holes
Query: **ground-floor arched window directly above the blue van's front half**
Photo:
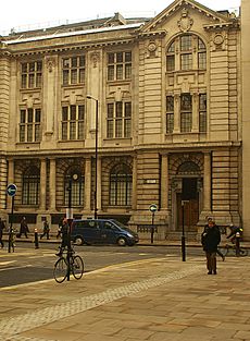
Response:
[{"label": "ground-floor arched window directly above the blue van's front half", "polygon": [[132,203],[132,170],[126,165],[115,166],[110,173],[110,205],[128,206]]}]

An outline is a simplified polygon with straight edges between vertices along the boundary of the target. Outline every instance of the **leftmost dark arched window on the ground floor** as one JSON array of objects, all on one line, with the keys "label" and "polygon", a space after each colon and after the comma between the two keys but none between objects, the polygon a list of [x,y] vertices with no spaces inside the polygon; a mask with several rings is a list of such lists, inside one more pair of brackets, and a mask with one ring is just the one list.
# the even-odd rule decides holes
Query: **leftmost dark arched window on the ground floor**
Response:
[{"label": "leftmost dark arched window on the ground floor", "polygon": [[38,205],[40,192],[40,171],[37,167],[30,166],[23,172],[23,205]]}]

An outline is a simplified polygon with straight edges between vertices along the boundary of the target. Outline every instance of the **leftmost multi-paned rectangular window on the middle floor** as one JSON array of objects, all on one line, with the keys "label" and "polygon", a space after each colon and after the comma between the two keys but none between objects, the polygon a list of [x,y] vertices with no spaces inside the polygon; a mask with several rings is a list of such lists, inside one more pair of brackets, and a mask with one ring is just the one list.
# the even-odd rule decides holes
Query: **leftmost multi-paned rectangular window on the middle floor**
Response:
[{"label": "leftmost multi-paned rectangular window on the middle floor", "polygon": [[20,142],[39,142],[40,134],[40,109],[22,109],[20,111]]}]

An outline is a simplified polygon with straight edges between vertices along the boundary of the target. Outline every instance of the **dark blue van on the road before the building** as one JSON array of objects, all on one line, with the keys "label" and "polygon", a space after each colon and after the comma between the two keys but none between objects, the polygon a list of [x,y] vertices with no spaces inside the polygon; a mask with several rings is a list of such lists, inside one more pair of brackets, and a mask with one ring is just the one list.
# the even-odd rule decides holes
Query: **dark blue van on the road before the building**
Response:
[{"label": "dark blue van on the road before the building", "polygon": [[72,222],[71,239],[77,245],[132,246],[139,242],[137,233],[114,219],[75,219]]}]

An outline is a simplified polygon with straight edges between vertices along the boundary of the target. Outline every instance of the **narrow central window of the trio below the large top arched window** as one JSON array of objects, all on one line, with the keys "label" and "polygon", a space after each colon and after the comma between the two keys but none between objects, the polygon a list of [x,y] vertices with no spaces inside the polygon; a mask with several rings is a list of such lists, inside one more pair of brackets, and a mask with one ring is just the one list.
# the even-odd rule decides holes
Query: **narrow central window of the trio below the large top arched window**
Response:
[{"label": "narrow central window of the trio below the large top arched window", "polygon": [[180,132],[190,133],[192,125],[192,97],[190,94],[180,96]]}]

